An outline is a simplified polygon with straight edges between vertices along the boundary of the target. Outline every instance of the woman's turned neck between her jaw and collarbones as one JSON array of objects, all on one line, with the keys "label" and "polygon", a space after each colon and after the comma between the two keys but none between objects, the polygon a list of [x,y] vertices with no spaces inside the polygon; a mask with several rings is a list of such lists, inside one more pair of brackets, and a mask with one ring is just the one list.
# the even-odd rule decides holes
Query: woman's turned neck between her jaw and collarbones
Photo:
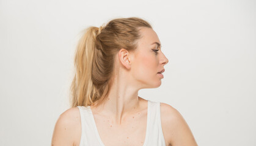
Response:
[{"label": "woman's turned neck between her jaw and collarbones", "polygon": [[97,107],[91,106],[91,108],[120,125],[125,117],[141,110],[142,99],[138,97],[139,88],[133,83],[127,76],[117,75],[113,79],[106,99]]}]

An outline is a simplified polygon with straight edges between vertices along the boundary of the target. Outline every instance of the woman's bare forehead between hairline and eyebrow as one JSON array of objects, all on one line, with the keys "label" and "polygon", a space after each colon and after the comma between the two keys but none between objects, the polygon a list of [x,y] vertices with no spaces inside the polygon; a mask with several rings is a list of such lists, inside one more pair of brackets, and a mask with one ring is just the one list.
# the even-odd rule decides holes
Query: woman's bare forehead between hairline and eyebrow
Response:
[{"label": "woman's bare forehead between hairline and eyebrow", "polygon": [[[155,42],[160,43],[158,35],[153,29],[144,27],[140,30],[140,33],[142,37],[138,40],[137,47],[147,48],[152,45],[156,45],[156,44],[153,44]],[[151,49],[151,48],[148,48],[148,49]]]}]

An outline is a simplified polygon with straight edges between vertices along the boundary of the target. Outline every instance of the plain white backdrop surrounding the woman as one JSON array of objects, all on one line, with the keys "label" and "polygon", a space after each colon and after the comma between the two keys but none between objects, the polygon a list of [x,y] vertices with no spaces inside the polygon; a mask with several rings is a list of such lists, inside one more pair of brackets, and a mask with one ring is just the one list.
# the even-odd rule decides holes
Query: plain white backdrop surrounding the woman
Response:
[{"label": "plain white backdrop surrounding the woman", "polygon": [[0,145],[50,145],[81,31],[130,16],[169,59],[162,85],[139,96],[178,109],[199,145],[256,145],[252,0],[0,0]]}]

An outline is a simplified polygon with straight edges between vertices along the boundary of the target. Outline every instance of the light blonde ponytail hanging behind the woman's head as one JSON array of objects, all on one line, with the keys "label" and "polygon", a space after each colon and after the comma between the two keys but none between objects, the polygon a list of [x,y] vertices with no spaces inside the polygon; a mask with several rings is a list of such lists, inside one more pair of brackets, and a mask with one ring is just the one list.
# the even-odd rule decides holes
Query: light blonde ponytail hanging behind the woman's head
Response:
[{"label": "light blonde ponytail hanging behind the woman's head", "polygon": [[89,27],[78,42],[74,58],[75,77],[71,83],[71,107],[93,103],[92,61],[97,33],[98,27]]}]

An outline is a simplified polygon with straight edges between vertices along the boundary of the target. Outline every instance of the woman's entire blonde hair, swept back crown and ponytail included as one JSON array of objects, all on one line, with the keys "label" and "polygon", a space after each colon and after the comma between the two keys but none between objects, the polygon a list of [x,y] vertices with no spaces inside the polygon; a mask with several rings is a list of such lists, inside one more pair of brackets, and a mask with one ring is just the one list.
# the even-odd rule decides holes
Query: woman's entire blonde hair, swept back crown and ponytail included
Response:
[{"label": "woman's entire blonde hair, swept back crown and ponytail included", "polygon": [[106,26],[86,29],[75,52],[71,107],[103,102],[111,88],[115,54],[122,48],[136,49],[142,27],[152,28],[144,19],[132,17],[112,19]]}]

